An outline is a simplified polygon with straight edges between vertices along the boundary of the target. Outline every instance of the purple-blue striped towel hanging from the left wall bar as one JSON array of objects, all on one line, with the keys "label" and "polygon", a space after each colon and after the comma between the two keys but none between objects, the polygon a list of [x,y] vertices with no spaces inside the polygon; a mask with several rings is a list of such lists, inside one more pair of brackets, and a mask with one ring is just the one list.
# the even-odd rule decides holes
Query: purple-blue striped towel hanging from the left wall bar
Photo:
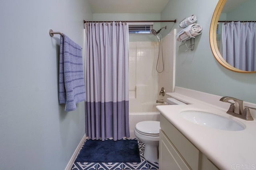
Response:
[{"label": "purple-blue striped towel hanging from the left wall bar", "polygon": [[59,103],[73,111],[85,100],[82,48],[68,36],[60,36]]}]

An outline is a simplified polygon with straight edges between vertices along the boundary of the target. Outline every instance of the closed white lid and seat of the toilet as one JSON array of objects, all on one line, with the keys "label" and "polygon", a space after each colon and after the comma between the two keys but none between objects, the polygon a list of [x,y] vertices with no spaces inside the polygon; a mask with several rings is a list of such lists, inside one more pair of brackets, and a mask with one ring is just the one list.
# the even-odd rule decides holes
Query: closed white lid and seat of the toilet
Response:
[{"label": "closed white lid and seat of the toilet", "polygon": [[135,129],[148,136],[159,136],[160,121],[141,121],[136,124]]}]

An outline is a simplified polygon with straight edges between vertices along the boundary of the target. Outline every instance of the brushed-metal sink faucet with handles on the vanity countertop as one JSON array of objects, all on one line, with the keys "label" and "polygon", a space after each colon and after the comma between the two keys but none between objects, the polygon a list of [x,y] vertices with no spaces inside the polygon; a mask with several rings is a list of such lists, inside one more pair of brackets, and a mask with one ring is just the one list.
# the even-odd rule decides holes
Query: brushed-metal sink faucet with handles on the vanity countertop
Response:
[{"label": "brushed-metal sink faucet with handles on the vanity countertop", "polygon": [[[229,102],[229,100],[233,100],[235,103]],[[244,101],[229,96],[220,98],[220,101],[230,103],[230,107],[226,113],[244,120],[253,120],[249,108],[246,107],[244,109],[243,107]]]}]

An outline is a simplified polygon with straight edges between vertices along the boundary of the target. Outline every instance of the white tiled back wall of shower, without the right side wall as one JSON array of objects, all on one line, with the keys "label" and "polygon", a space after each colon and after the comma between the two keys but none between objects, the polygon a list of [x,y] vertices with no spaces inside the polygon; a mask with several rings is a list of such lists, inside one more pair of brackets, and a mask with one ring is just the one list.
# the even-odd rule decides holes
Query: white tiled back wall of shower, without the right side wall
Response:
[{"label": "white tiled back wall of shower, without the right side wall", "polygon": [[129,110],[156,111],[158,74],[157,42],[130,42],[129,48]]}]

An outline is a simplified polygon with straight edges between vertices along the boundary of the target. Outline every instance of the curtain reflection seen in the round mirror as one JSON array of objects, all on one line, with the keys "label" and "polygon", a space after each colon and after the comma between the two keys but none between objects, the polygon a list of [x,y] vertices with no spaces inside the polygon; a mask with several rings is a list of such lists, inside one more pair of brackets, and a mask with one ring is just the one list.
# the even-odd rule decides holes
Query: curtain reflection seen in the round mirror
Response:
[{"label": "curtain reflection seen in the round mirror", "polygon": [[256,70],[256,23],[228,22],[222,25],[223,59],[240,70]]}]

